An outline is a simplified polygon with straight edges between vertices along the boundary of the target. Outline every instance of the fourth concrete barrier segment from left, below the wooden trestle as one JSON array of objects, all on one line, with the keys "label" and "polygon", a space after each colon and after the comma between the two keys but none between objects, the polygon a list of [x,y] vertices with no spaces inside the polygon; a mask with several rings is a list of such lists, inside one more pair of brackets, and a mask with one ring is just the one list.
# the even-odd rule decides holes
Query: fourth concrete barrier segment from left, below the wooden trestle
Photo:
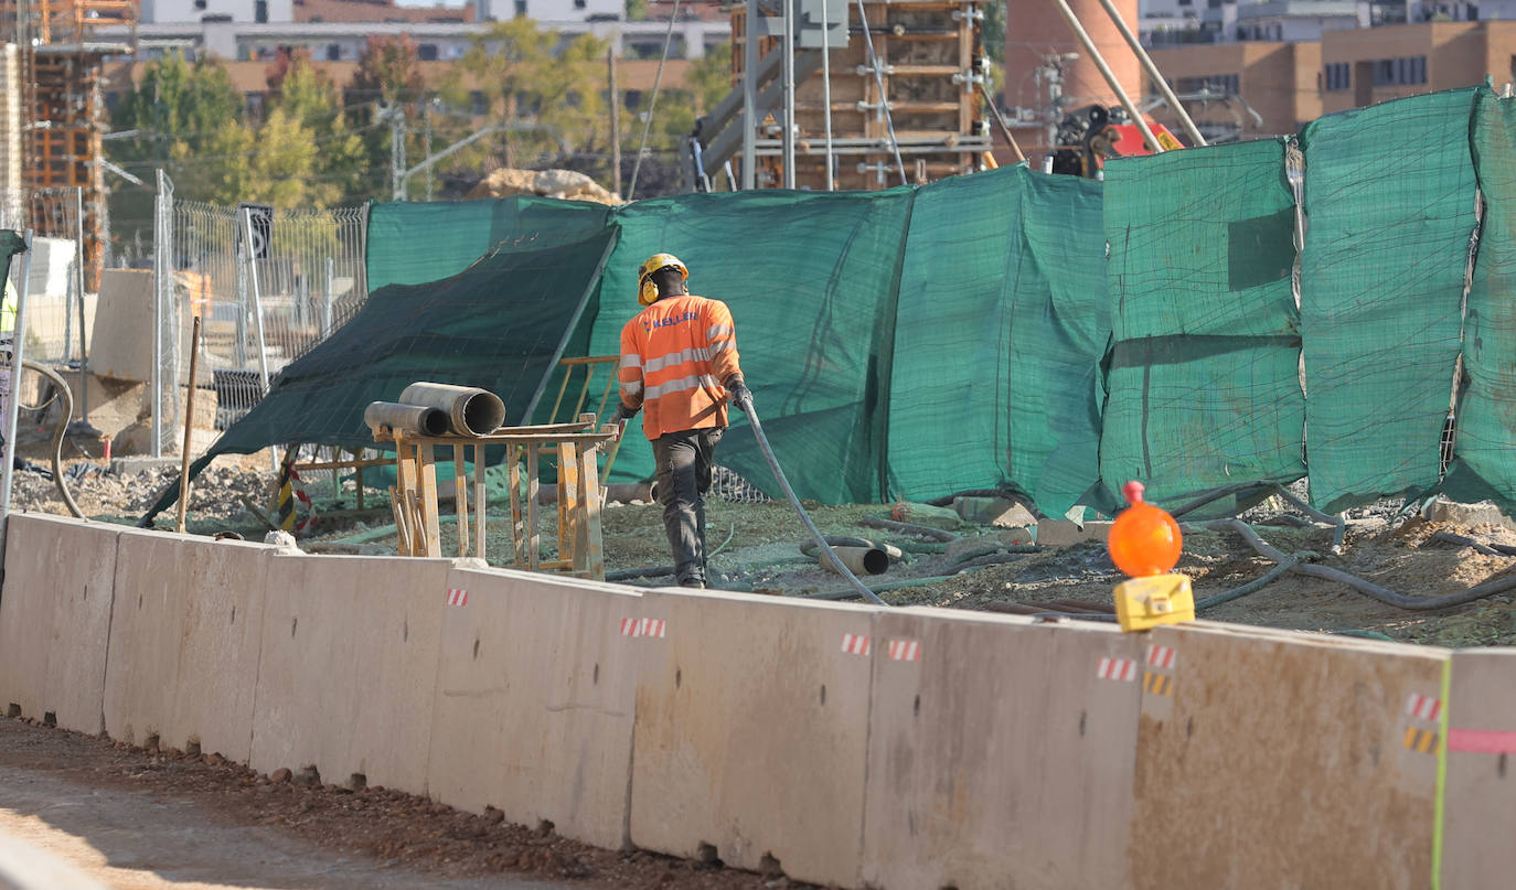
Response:
[{"label": "fourth concrete barrier segment from left, below the wooden trestle", "polygon": [[641,596],[506,570],[447,576],[432,798],[602,848],[626,845]]}]

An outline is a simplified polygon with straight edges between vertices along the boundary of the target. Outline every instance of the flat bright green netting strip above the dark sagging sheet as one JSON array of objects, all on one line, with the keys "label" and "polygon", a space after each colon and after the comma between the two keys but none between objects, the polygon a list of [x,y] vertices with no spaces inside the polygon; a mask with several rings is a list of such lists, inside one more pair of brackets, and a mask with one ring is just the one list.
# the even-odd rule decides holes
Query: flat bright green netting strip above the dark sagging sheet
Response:
[{"label": "flat bright green netting strip above the dark sagging sheet", "polygon": [[452,277],[496,244],[549,247],[605,229],[611,208],[517,194],[368,208],[368,293]]}]

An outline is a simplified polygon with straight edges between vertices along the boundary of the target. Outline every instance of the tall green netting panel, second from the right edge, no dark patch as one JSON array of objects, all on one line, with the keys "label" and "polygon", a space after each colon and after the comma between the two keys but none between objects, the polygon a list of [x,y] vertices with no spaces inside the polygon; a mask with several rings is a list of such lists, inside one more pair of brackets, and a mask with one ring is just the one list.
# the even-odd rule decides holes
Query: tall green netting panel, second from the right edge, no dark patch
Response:
[{"label": "tall green netting panel, second from the right edge, no dark patch", "polygon": [[1430,490],[1458,358],[1477,89],[1313,121],[1305,147],[1305,456],[1337,511]]}]

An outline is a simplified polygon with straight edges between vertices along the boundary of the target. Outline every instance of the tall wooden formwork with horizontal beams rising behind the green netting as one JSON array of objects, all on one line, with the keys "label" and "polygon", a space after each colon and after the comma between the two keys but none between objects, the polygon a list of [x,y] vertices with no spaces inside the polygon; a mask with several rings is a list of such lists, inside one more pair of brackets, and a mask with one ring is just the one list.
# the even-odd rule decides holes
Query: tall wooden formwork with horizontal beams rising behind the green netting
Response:
[{"label": "tall wooden formwork with horizontal beams rising behind the green netting", "polygon": [[[849,42],[831,52],[831,112],[838,190],[901,185],[890,123],[911,182],[973,173],[984,168],[990,146],[984,112],[982,42],[978,3],[946,0],[866,0],[867,36],[857,0],[847,8]],[[776,11],[763,9],[773,15]],[[743,77],[746,5],[732,8],[732,83]],[[869,39],[879,74],[869,64]],[[778,45],[758,38],[758,56]],[[802,50],[797,50],[797,53]],[[881,85],[888,120],[881,108]],[[760,126],[758,185],[782,183],[779,112]],[[796,188],[826,188],[826,100],[820,71],[794,89]]]}]

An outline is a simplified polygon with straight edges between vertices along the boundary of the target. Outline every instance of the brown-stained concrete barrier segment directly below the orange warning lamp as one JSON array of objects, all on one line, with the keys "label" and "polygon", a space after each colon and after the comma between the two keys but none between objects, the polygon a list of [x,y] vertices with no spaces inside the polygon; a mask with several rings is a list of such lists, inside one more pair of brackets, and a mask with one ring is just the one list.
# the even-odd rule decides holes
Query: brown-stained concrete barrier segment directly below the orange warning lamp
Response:
[{"label": "brown-stained concrete barrier segment directly below the orange warning lamp", "polygon": [[[1448,652],[1198,622],[1137,729],[1131,885],[1425,887]],[[1486,840],[1489,835],[1486,834]]]}]

